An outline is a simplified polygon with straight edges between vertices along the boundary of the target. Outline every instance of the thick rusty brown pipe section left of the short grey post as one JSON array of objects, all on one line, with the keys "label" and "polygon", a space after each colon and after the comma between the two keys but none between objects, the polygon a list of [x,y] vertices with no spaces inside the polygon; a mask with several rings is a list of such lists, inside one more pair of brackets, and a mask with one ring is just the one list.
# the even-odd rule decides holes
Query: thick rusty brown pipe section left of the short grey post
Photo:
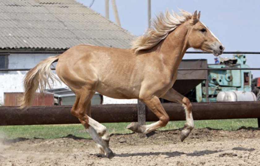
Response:
[{"label": "thick rusty brown pipe section left of the short grey post", "polygon": [[[80,123],[71,115],[72,106],[32,106],[19,109],[16,106],[0,107],[0,125],[48,125]],[[136,104],[111,104],[91,106],[93,119],[99,122],[137,121]]]}]

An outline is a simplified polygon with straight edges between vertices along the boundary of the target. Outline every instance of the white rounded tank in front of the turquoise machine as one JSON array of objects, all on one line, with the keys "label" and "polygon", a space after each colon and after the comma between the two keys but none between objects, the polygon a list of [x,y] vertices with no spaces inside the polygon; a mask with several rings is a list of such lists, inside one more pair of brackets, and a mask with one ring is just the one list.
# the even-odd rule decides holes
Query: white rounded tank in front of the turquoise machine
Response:
[{"label": "white rounded tank in front of the turquoise machine", "polygon": [[217,101],[257,101],[253,92],[227,91],[219,92]]}]

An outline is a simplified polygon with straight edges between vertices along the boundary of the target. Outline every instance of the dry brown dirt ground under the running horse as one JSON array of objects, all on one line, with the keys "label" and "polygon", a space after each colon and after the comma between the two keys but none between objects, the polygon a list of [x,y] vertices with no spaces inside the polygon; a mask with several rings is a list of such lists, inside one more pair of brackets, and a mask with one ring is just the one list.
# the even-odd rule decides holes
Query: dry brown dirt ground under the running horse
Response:
[{"label": "dry brown dirt ground under the running horse", "polygon": [[0,166],[26,165],[260,165],[260,130],[195,129],[180,142],[180,130],[149,135],[113,134],[115,157],[98,154],[91,139],[2,139]]}]

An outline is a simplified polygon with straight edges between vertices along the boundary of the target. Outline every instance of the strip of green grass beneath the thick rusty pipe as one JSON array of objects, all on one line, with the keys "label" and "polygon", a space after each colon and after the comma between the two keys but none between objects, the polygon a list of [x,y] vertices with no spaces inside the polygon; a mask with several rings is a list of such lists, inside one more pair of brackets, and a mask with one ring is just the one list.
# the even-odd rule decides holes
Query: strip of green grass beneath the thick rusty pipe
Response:
[{"label": "strip of green grass beneath the thick rusty pipe", "polygon": [[[146,124],[151,124],[147,122]],[[185,121],[170,121],[167,126],[159,130],[171,130],[183,127]],[[103,123],[109,133],[131,133],[126,126],[129,123]],[[194,121],[195,128],[210,127],[214,129],[236,130],[241,126],[257,127],[257,119],[226,119],[226,120],[201,120]],[[76,137],[90,138],[81,124],[70,125],[30,125],[30,126],[0,126],[0,135],[5,138],[12,139],[18,137],[24,138],[59,138],[65,137],[68,134]]]}]

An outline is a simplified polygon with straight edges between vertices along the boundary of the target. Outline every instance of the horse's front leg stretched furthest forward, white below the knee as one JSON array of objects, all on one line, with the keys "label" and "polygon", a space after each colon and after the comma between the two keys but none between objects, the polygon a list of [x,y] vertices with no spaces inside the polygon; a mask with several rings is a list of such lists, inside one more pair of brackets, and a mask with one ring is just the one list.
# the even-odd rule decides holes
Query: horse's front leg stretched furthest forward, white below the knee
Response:
[{"label": "horse's front leg stretched furthest forward, white below the knee", "polygon": [[186,123],[184,124],[184,128],[180,133],[180,140],[183,141],[185,138],[188,137],[191,130],[194,127],[193,117],[192,117],[192,105],[190,100],[187,97],[182,96],[179,92],[175,91],[171,88],[163,97],[163,99],[177,102],[182,104],[185,109],[186,113]]}]

